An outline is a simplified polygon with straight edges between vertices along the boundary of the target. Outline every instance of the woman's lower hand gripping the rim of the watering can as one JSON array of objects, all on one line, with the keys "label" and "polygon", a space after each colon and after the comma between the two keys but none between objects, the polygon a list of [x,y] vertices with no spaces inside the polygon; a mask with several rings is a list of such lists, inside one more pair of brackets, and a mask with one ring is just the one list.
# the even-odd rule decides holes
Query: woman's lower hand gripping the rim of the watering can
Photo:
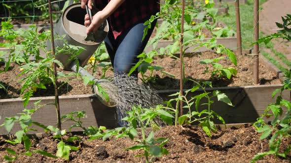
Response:
[{"label": "woman's lower hand gripping the rim of the watering can", "polygon": [[105,19],[106,19],[106,16],[103,14],[102,11],[99,11],[94,16],[92,16],[92,22],[90,24],[89,15],[86,14],[85,22],[84,22],[85,27],[87,27],[86,33],[89,34],[92,31],[94,32],[97,31],[97,29],[101,26],[101,24],[105,21]]}]

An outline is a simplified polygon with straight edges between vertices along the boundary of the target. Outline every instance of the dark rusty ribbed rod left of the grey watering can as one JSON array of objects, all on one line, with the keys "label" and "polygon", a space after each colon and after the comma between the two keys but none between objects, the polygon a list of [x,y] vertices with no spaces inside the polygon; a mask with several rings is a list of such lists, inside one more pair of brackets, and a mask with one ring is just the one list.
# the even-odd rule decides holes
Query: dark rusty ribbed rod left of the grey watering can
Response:
[{"label": "dark rusty ribbed rod left of the grey watering can", "polygon": [[[52,9],[51,9],[51,1],[50,0],[48,0],[48,9],[49,9],[49,25],[50,25],[50,37],[51,37],[51,49],[52,49],[53,56],[56,57],[56,55],[55,55],[55,41],[54,41]],[[53,69],[54,69],[54,82],[55,82],[54,87],[55,87],[55,102],[56,102],[56,109],[57,109],[57,127],[58,127],[59,130],[62,130],[56,63],[53,62],[52,66],[53,66]]]}]

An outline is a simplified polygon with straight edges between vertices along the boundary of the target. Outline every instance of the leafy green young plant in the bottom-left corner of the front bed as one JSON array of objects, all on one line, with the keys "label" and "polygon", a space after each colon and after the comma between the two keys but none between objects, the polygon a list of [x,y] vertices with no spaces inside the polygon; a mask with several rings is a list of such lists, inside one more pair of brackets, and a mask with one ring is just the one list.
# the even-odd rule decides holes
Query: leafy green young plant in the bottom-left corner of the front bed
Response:
[{"label": "leafy green young plant in the bottom-left corner of the front bed", "polygon": [[31,150],[31,146],[32,146],[32,142],[29,138],[29,136],[27,135],[27,133],[29,131],[37,131],[36,129],[32,128],[31,126],[34,124],[36,126],[39,126],[41,128],[46,128],[46,126],[35,122],[32,120],[32,115],[40,108],[42,108],[45,105],[40,105],[41,100],[35,102],[35,109],[24,109],[23,112],[24,113],[19,113],[20,116],[14,116],[14,117],[6,117],[4,120],[4,123],[1,126],[4,126],[4,128],[6,129],[6,131],[8,133],[10,133],[11,129],[13,128],[15,123],[19,123],[20,127],[22,130],[19,130],[15,133],[16,139],[13,140],[5,140],[8,143],[11,144],[19,144],[19,143],[23,143],[24,144],[24,148],[25,148],[25,152],[15,152],[13,149],[10,148],[6,148],[6,152],[10,155],[12,155],[12,157],[5,155],[4,159],[8,162],[12,162],[17,160],[20,156],[22,155],[27,155],[27,156],[32,156],[33,153],[39,153],[41,155],[47,156],[47,157],[53,157],[56,158],[56,156],[43,151],[43,150]]}]

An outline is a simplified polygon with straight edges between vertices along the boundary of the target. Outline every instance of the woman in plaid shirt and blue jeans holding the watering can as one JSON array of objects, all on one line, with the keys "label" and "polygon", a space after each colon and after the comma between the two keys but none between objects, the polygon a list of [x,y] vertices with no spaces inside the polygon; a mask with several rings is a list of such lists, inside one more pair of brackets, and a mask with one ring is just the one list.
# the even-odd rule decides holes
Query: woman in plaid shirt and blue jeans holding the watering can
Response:
[{"label": "woman in plaid shirt and blue jeans holding the watering can", "polygon": [[[87,0],[80,0],[82,8],[85,8]],[[92,8],[92,0],[88,0],[89,8]],[[92,18],[85,16],[87,33],[97,30],[101,23],[107,19],[109,33],[104,40],[109,57],[114,69],[114,74],[128,73],[138,62],[137,55],[141,54],[153,31],[156,21],[148,29],[143,40],[144,23],[159,12],[159,0],[95,0],[94,6],[100,9]],[[133,73],[137,76],[138,72]]]}]

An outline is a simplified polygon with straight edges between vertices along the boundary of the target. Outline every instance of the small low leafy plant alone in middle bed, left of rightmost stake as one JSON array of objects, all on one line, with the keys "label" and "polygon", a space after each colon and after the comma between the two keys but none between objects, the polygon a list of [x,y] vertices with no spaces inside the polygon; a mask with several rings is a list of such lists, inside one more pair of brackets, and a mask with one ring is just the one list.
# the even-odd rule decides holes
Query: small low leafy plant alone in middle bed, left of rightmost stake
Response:
[{"label": "small low leafy plant alone in middle bed, left of rightmost stake", "polygon": [[[218,61],[221,59],[224,59],[224,57],[218,57],[214,59],[204,59],[200,61],[199,63],[206,65],[204,74],[210,73],[211,79],[213,79],[216,75],[218,76],[218,78],[224,76],[227,79],[230,79],[232,75],[235,76],[237,74],[236,69],[233,67],[223,68],[223,66],[218,63]],[[209,67],[208,65],[212,65],[212,68]]]}]

